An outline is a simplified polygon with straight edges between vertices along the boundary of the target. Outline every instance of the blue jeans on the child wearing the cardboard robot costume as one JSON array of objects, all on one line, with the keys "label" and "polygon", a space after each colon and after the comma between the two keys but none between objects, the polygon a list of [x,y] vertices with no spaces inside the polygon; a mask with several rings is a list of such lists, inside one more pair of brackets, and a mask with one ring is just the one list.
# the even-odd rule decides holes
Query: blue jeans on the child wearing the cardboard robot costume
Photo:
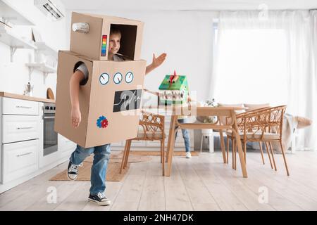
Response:
[{"label": "blue jeans on the child wearing the cardboard robot costume", "polygon": [[106,189],[106,170],[111,153],[110,144],[92,148],[82,148],[77,145],[69,160],[75,165],[80,165],[92,153],[94,153],[94,161],[92,162],[92,175],[90,177],[92,186],[89,191],[92,195],[97,195],[97,193],[104,192]]}]

